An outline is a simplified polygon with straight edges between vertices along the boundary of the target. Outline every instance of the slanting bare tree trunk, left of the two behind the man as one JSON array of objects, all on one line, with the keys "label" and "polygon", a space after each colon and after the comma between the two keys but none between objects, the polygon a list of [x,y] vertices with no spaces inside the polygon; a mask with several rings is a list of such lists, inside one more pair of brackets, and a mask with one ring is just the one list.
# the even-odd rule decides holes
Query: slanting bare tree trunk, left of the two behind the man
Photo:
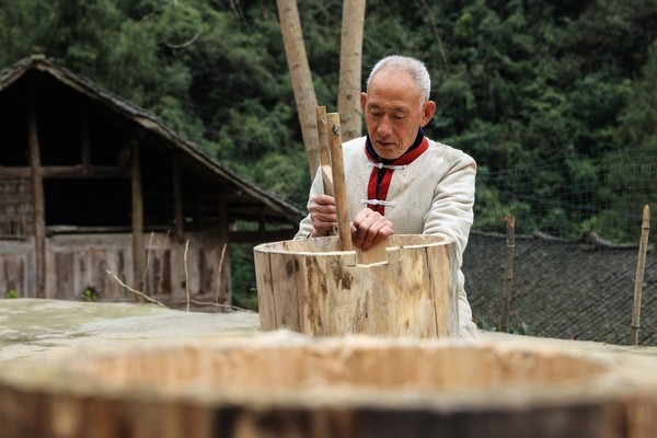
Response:
[{"label": "slanting bare tree trunk, left of the two behind the man", "polygon": [[301,124],[301,135],[308,155],[310,180],[312,181],[320,165],[316,122],[318,100],[308,65],[308,56],[306,55],[297,0],[276,0],[276,5],[295,101],[297,102],[297,112],[299,113],[299,123]]}]

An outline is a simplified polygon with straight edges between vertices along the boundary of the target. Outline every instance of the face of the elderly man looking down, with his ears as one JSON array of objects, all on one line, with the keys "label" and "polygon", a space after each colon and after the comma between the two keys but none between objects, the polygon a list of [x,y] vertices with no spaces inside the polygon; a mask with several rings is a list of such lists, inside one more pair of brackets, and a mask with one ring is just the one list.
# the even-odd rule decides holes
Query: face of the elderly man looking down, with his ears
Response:
[{"label": "face of the elderly man looking down, with his ears", "polygon": [[413,145],[417,129],[436,112],[431,101],[422,104],[422,92],[405,72],[380,71],[368,92],[360,94],[367,132],[379,157],[394,160]]}]

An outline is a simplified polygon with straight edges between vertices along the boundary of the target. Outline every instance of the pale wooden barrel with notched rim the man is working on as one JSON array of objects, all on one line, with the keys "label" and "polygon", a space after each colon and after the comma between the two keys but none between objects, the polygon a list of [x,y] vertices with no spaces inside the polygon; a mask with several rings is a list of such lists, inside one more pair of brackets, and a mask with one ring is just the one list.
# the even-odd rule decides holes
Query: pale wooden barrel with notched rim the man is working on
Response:
[{"label": "pale wooden barrel with notched rim the man is working on", "polygon": [[319,336],[456,336],[454,244],[436,235],[389,238],[388,260],[364,265],[337,237],[254,249],[262,330]]}]

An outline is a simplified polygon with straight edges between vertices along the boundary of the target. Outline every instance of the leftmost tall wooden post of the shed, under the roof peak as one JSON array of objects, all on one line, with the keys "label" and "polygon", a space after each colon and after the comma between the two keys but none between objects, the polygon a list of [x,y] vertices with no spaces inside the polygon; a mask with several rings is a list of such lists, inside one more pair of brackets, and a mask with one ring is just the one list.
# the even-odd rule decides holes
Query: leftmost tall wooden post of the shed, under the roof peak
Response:
[{"label": "leftmost tall wooden post of the shed, under the roof peak", "polygon": [[34,253],[36,260],[36,297],[46,296],[46,208],[44,180],[41,166],[36,110],[31,99],[27,105],[27,143],[32,168],[32,211],[34,223]]}]

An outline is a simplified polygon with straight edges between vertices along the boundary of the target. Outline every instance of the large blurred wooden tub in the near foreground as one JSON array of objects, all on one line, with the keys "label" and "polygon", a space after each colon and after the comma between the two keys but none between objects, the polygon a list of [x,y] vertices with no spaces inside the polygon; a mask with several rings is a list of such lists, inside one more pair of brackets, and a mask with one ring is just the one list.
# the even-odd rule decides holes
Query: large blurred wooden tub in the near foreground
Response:
[{"label": "large blurred wooden tub in the near foreground", "polygon": [[593,354],[273,332],[8,364],[0,437],[648,438],[654,380]]}]

